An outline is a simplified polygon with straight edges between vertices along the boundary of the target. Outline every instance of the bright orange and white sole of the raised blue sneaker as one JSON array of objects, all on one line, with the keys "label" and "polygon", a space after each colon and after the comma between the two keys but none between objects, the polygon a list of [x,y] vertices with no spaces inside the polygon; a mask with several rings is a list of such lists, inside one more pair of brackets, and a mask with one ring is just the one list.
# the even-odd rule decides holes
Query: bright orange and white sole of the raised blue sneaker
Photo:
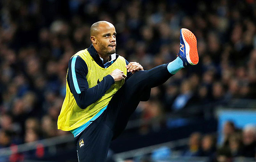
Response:
[{"label": "bright orange and white sole of the raised blue sneaker", "polygon": [[185,28],[181,29],[183,41],[185,43],[186,48],[186,58],[188,60],[188,63],[191,65],[196,65],[199,61],[198,57],[198,51],[197,51],[197,41],[196,36],[194,34]]}]

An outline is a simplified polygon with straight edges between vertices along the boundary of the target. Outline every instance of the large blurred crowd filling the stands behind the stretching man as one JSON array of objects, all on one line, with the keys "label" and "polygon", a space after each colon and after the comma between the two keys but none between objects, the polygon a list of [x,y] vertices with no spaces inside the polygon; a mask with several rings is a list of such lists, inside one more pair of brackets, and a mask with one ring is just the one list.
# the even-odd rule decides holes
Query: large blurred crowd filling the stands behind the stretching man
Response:
[{"label": "large blurred crowd filling the stands behind the stretching man", "polygon": [[254,0],[3,0],[0,12],[0,148],[68,133],[57,130],[68,61],[99,20],[114,24],[117,53],[145,70],[177,57],[180,28],[197,38],[198,65],[153,88],[136,118],[256,98]]}]

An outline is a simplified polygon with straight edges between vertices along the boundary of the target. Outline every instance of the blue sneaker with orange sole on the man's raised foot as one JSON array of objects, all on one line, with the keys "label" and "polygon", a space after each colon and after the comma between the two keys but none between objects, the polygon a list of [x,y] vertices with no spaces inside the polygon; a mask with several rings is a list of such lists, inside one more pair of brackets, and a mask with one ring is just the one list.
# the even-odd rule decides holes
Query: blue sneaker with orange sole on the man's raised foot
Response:
[{"label": "blue sneaker with orange sole on the man's raised foot", "polygon": [[180,51],[178,57],[183,61],[183,66],[196,65],[198,63],[198,51],[196,36],[188,29],[180,29]]}]

